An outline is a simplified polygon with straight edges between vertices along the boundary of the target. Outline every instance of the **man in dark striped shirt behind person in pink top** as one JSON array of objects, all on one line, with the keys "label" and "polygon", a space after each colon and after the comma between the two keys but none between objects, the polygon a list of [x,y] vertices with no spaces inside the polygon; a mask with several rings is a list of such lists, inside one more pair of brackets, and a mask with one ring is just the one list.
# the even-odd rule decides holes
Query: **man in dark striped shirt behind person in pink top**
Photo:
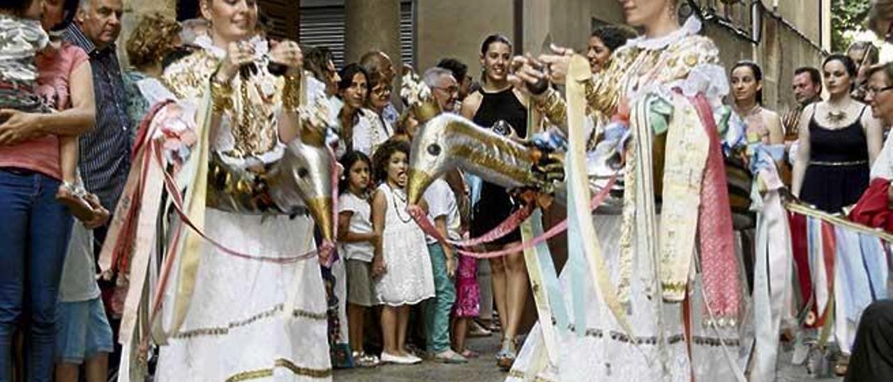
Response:
[{"label": "man in dark striped shirt behind person in pink top", "polygon": [[[81,0],[75,22],[65,30],[65,39],[89,54],[96,94],[96,129],[79,139],[80,176],[110,212],[127,181],[134,130],[115,54],[122,9],[121,0]],[[96,238],[104,239],[104,229],[96,230]]]}]

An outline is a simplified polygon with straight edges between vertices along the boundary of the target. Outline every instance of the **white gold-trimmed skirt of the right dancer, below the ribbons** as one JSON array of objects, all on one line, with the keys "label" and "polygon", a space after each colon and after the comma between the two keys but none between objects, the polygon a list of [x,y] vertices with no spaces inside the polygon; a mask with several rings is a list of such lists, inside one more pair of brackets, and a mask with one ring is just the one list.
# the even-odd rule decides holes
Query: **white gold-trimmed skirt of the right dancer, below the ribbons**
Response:
[{"label": "white gold-trimmed skirt of the right dancer, below the ribbons", "polygon": [[[595,215],[598,241],[605,255],[612,285],[617,285],[620,274],[616,261],[620,253],[622,216]],[[738,243],[736,244],[738,245]],[[714,331],[701,323],[701,303],[697,293],[691,293],[692,330],[691,358],[684,340],[682,305],[680,303],[660,303],[653,291],[657,279],[653,264],[647,256],[638,256],[630,280],[630,303],[627,320],[638,338],[639,345],[633,345],[625,331],[614,319],[594,283],[584,283],[586,300],[586,328],[563,330],[551,324],[557,335],[559,353],[555,357],[560,365],[548,367],[544,353],[541,322],[530,330],[530,336],[513,364],[507,381],[734,381],[728,367],[729,362],[739,362],[739,332],[736,329],[722,328]],[[573,318],[571,303],[571,282],[569,272],[563,272],[560,282],[565,291],[568,316]],[[700,291],[699,275],[692,283],[692,290]],[[663,328],[666,345],[657,345],[658,334]],[[723,351],[719,340],[731,346]],[[744,347],[744,346],[742,346]],[[728,351],[728,353],[726,353]],[[726,356],[730,359],[727,359]],[[743,367],[743,364],[741,365]],[[537,371],[540,370],[540,371]]]}]

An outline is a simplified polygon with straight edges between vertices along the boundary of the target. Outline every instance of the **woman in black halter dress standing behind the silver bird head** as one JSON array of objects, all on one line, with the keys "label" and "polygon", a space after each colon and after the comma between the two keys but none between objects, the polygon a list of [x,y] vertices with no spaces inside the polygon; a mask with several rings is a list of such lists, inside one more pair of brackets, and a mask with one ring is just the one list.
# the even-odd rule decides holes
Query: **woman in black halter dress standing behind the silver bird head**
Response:
[{"label": "woman in black halter dress standing behind the silver bird head", "polygon": [[[506,79],[512,45],[508,38],[491,35],[480,48],[480,61],[484,66],[484,85],[479,92],[469,95],[463,104],[464,117],[474,120],[485,129],[499,133],[527,136],[527,107]],[[511,131],[506,131],[506,126]],[[472,206],[472,237],[478,237],[505,220],[519,204],[508,195],[505,188],[483,182],[480,200]],[[521,233],[512,233],[490,244],[490,249],[502,249],[521,241]],[[497,354],[497,365],[508,370],[517,354],[515,342],[521,323],[524,303],[529,294],[527,268],[522,253],[512,253],[490,260],[493,294],[496,297],[499,321],[503,328],[503,340]]]}]

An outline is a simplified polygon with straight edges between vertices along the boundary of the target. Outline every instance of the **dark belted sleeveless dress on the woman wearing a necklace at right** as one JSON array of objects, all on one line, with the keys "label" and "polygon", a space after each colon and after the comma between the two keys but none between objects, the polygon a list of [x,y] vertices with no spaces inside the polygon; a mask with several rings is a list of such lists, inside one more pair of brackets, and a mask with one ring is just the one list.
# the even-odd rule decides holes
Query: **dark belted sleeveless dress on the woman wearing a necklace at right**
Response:
[{"label": "dark belted sleeveless dress on the woman wearing a necklace at right", "polygon": [[809,120],[809,166],[800,188],[800,200],[825,212],[840,212],[854,204],[868,187],[868,145],[862,127],[862,109],[843,129],[827,129]]}]

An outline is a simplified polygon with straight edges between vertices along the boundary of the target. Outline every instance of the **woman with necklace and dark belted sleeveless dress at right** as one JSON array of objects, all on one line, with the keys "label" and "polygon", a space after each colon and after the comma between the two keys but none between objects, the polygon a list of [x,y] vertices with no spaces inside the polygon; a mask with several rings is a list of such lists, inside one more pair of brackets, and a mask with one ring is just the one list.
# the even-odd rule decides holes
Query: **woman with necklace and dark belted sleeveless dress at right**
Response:
[{"label": "woman with necklace and dark belted sleeveless dress at right", "polygon": [[792,191],[805,203],[826,212],[859,200],[882,144],[879,120],[850,97],[855,65],[832,54],[822,65],[830,98],[807,106],[800,118],[799,149]]}]

